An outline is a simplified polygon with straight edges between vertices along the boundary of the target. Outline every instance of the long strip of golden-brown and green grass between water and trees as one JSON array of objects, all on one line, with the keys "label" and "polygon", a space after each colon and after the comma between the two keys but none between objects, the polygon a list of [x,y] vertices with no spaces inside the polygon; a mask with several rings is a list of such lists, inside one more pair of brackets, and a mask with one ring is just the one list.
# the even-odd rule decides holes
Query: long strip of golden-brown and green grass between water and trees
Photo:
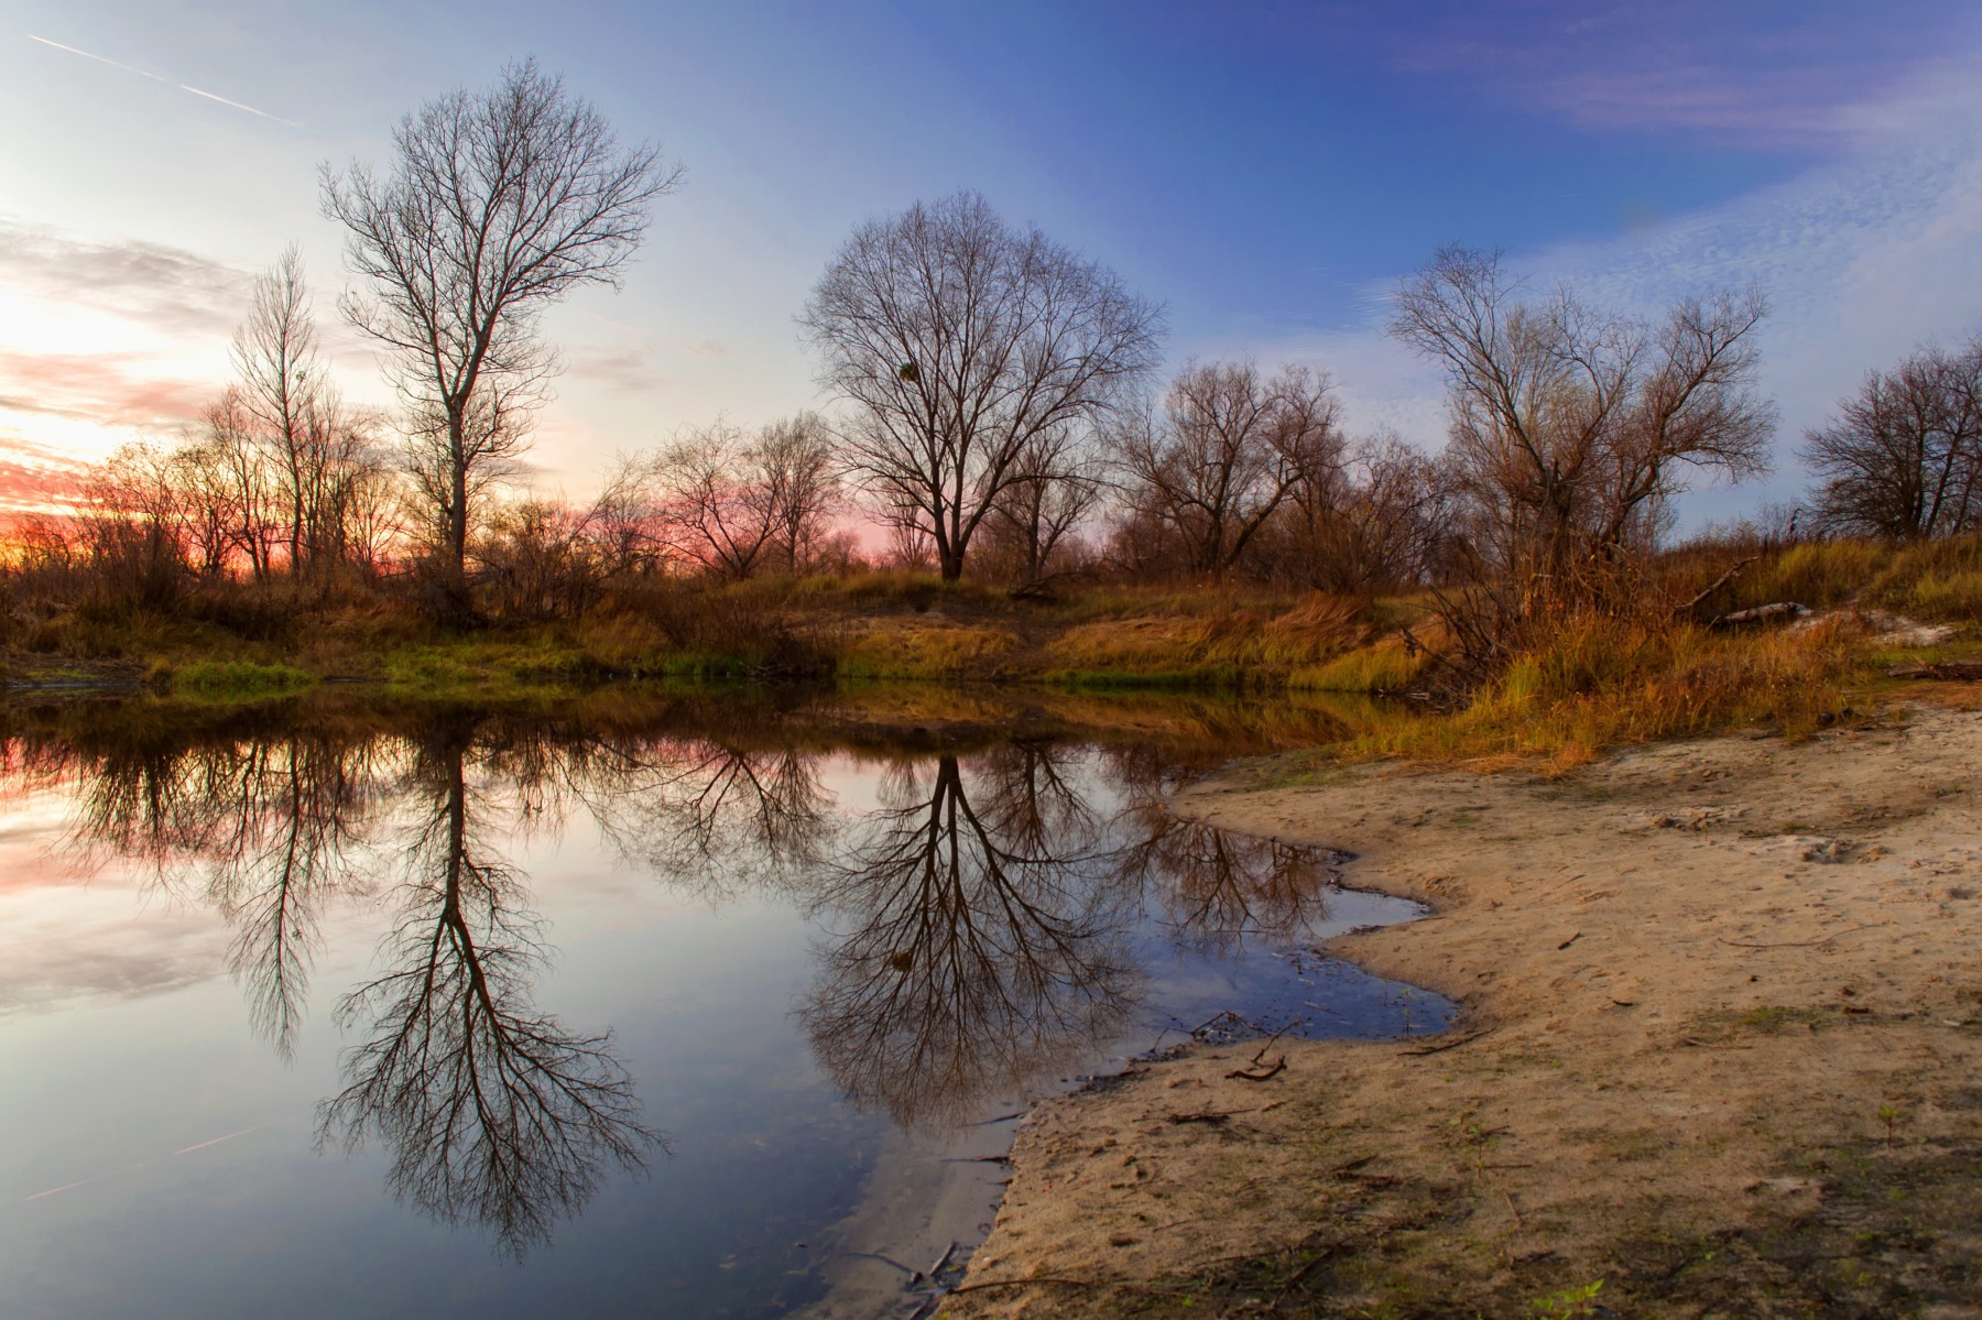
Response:
[{"label": "long strip of golden-brown and green grass between water and trees", "polygon": [[[1651,599],[1685,601],[1738,547],[1669,555]],[[1772,601],[1821,622],[1716,632],[1699,622]],[[222,608],[224,606],[224,608]],[[1940,636],[1891,638],[1893,614]],[[1689,618],[1671,608],[1566,620],[1496,678],[1433,714],[1362,702],[1334,717],[1332,759],[1409,757],[1568,769],[1603,747],[1742,723],[1806,733],[1887,686],[1907,656],[1982,654],[1982,539],[1796,545],[1760,555]],[[664,585],[577,618],[436,626],[410,603],[297,603],[236,589],[170,614],[75,606],[8,630],[16,690],[113,686],[264,702],[355,682],[412,700],[547,702],[626,682],[791,680],[1092,694],[1413,694],[1437,664],[1429,597],[1086,587],[1019,601],[926,575]]]}]

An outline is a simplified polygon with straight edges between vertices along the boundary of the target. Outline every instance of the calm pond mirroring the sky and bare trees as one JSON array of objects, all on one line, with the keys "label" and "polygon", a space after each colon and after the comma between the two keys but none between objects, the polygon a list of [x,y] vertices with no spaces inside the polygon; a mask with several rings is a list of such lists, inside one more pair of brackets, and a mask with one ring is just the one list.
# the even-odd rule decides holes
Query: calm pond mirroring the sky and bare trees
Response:
[{"label": "calm pond mirroring the sky and bare trees", "polygon": [[1163,811],[1257,725],[14,717],[0,1316],[803,1314],[1084,1072],[1439,1029],[1308,951],[1407,904]]}]

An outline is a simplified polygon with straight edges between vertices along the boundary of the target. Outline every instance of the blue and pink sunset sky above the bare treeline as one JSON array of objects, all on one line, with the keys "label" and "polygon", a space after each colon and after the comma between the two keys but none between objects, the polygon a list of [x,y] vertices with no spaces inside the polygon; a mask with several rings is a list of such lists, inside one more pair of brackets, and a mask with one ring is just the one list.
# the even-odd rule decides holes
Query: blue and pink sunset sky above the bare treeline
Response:
[{"label": "blue and pink sunset sky above the bare treeline", "polygon": [[525,55],[686,170],[622,287],[547,319],[547,492],[828,406],[809,289],[858,222],[957,188],[1163,303],[1169,365],[1318,367],[1352,430],[1425,448],[1443,386],[1383,321],[1443,244],[1643,315],[1760,283],[1778,472],[1689,521],[1794,497],[1867,369],[1982,331],[1972,0],[0,0],[0,509],[188,426],[289,242],[347,394],[388,402],[317,170]]}]

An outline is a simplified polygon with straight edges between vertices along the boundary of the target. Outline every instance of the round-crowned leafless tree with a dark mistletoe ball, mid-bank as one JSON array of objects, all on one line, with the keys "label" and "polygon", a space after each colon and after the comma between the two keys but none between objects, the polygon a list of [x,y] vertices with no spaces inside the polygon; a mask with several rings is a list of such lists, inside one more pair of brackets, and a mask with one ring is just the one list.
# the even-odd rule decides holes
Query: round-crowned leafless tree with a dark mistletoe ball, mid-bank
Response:
[{"label": "round-crowned leafless tree with a dark mistletoe ball, mid-bank", "polygon": [[799,317],[850,404],[846,466],[934,543],[943,581],[1043,436],[1092,426],[1156,363],[1161,313],[977,192],[870,220]]}]

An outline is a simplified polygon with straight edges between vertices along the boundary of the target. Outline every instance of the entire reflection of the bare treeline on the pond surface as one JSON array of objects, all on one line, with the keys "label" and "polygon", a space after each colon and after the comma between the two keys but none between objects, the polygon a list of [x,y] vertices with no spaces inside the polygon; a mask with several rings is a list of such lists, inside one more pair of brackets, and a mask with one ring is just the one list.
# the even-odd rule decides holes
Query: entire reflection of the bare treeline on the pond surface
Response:
[{"label": "entire reflection of the bare treeline on the pond surface", "polygon": [[377,1142],[398,1197],[511,1255],[664,1148],[610,1033],[533,1003],[547,932],[503,854],[531,828],[591,821],[710,902],[797,902],[826,932],[797,1019],[844,1094],[900,1124],[971,1116],[1124,1039],[1152,926],[1223,957],[1326,916],[1334,854],[1177,821],[1159,807],[1177,765],[1148,743],[890,753],[878,809],[854,815],[828,789],[848,765],[797,741],[704,712],[686,729],[438,717],[6,755],[16,779],[77,783],[89,854],[228,920],[230,971],[283,1056],[323,910],[383,896],[392,930],[337,1005],[357,1043],[319,1146]]}]

